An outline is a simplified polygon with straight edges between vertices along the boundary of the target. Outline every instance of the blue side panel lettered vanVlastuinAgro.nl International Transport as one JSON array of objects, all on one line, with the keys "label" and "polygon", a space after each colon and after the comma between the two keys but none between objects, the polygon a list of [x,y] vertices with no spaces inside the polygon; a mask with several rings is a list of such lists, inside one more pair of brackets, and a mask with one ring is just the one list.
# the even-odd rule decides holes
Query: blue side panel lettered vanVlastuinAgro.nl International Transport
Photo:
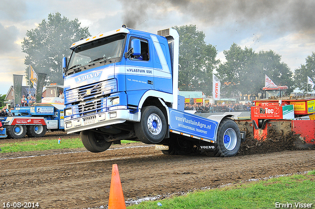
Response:
[{"label": "blue side panel lettered vanVlastuinAgro.nl International Transport", "polygon": [[170,108],[171,130],[215,141],[218,122],[211,119],[200,119],[185,112]]}]

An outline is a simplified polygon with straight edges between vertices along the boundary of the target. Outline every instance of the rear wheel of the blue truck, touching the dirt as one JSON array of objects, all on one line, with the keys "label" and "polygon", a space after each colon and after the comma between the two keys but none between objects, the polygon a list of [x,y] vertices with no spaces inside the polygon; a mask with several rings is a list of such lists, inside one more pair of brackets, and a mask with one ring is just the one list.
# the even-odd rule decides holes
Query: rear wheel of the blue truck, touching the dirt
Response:
[{"label": "rear wheel of the blue truck, touching the dirt", "polygon": [[237,124],[231,119],[222,119],[218,129],[216,148],[212,153],[213,156],[235,156],[240,149],[240,146],[241,133]]}]

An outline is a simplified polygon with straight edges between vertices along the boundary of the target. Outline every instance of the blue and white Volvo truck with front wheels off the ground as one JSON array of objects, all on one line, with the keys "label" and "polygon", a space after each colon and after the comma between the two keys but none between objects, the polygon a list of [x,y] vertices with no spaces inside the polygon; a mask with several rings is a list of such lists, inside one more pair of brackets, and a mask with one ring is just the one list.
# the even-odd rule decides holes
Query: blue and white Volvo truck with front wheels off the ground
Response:
[{"label": "blue and white Volvo truck with front wheels off the ground", "polygon": [[198,147],[233,156],[246,133],[231,115],[202,118],[184,112],[178,95],[179,34],[118,30],[81,39],[63,58],[64,129],[81,133],[91,152],[120,140],[155,144],[164,154]]}]

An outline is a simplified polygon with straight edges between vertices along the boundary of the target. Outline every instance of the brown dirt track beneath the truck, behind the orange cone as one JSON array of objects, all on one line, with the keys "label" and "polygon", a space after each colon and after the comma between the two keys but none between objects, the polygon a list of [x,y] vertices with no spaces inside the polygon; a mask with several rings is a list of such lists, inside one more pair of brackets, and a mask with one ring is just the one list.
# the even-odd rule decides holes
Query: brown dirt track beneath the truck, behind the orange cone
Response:
[{"label": "brown dirt track beneath the truck, behind the orange cone", "polygon": [[[138,145],[147,146],[132,146]],[[169,156],[154,147],[112,149],[126,146],[130,145],[112,145],[102,153],[85,149],[0,153],[0,206],[3,202],[38,202],[42,209],[105,206],[112,164],[118,164],[125,200],[315,169],[315,150],[215,158]],[[21,156],[32,157],[17,158]]]}]

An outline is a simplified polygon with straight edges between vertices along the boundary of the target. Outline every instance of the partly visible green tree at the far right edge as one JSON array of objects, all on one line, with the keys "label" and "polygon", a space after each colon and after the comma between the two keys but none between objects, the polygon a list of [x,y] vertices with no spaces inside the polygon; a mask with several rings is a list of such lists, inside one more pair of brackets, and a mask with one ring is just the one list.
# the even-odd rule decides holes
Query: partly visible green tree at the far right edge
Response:
[{"label": "partly visible green tree at the far right edge", "polygon": [[311,91],[311,85],[307,86],[307,76],[315,82],[315,53],[313,52],[305,60],[306,64],[301,64],[301,67],[294,71],[294,87],[303,90],[304,93],[307,89]]}]

